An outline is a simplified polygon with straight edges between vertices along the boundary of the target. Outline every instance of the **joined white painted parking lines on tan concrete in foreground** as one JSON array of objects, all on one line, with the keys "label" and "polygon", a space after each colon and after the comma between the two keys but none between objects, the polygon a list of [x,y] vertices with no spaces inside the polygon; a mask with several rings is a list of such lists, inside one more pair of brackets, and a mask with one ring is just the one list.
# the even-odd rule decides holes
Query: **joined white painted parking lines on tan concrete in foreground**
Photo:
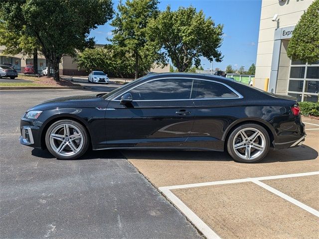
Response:
[{"label": "joined white painted parking lines on tan concrete in foreground", "polygon": [[166,186],[160,187],[159,190],[170,200],[187,218],[191,221],[197,229],[207,238],[207,239],[220,239],[220,237],[205,224],[193,211],[191,211],[179,198],[177,198],[170,190],[172,189],[183,189],[183,188],[194,188],[194,187],[203,187],[203,186],[212,186],[212,185],[221,185],[221,184],[231,184],[231,183],[242,183],[242,182],[253,182],[264,189],[278,195],[279,197],[295,204],[296,206],[306,210],[307,212],[319,217],[319,211],[299,202],[298,200],[274,189],[267,184],[260,182],[261,180],[271,180],[271,179],[281,179],[281,178],[292,178],[292,177],[302,177],[310,175],[319,175],[319,171],[308,172],[308,173],[294,173],[294,174],[285,174],[285,175],[276,175],[276,176],[266,176],[266,177],[256,177],[256,178],[243,178],[243,179],[234,179],[234,180],[224,180],[224,181],[215,181],[215,182],[206,182],[206,183],[193,183],[193,184],[184,184],[184,185],[175,185],[175,186]]}]

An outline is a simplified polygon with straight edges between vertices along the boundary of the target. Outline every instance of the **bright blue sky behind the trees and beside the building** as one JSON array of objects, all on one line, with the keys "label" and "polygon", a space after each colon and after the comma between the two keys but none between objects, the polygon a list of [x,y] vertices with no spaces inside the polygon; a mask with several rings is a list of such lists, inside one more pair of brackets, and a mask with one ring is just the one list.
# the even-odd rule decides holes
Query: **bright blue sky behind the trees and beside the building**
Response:
[{"label": "bright blue sky behind the trees and beside the building", "polygon": [[[119,1],[113,0],[113,3],[117,10]],[[192,5],[197,10],[202,9],[216,25],[224,25],[223,43],[219,48],[224,58],[222,62],[214,61],[213,69],[224,70],[227,65],[232,65],[234,69],[244,66],[248,70],[252,63],[256,64],[261,0],[160,0],[160,10],[167,5],[171,10]],[[112,38],[109,23],[91,31],[90,37],[95,37],[96,43],[109,43],[106,40]],[[205,70],[211,68],[211,62],[206,58],[201,58],[201,65]]]}]

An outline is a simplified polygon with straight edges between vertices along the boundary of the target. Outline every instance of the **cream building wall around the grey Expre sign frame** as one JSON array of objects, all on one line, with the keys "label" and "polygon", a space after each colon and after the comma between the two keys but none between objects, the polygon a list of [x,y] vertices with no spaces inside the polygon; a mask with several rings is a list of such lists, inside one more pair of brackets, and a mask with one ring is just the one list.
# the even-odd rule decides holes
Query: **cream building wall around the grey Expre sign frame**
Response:
[{"label": "cream building wall around the grey Expre sign frame", "polygon": [[[265,78],[270,78],[275,29],[296,25],[312,2],[313,0],[262,0],[256,59],[256,87],[264,89]],[[276,13],[278,21],[272,21]],[[287,47],[288,41],[283,40],[282,43],[284,48]],[[287,88],[289,65],[287,65],[287,53],[283,45],[281,57],[286,59],[280,59],[277,90],[278,93],[285,93],[283,89],[285,86]]]}]

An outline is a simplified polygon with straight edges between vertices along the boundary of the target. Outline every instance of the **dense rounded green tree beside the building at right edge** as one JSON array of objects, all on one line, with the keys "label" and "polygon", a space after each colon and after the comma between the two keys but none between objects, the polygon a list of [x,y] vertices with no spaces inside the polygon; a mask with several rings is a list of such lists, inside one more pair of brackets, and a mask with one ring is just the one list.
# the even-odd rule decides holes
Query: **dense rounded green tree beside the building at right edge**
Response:
[{"label": "dense rounded green tree beside the building at right edge", "polygon": [[289,41],[287,55],[309,63],[319,60],[319,0],[301,16]]}]

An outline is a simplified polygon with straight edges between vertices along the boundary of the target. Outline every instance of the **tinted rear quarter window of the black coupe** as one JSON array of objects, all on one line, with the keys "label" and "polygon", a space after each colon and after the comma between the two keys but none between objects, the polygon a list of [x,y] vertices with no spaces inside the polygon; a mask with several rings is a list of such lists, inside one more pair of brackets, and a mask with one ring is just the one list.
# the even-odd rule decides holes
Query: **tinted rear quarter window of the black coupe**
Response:
[{"label": "tinted rear quarter window of the black coupe", "polygon": [[192,99],[238,98],[238,95],[222,84],[195,80],[191,97]]}]

